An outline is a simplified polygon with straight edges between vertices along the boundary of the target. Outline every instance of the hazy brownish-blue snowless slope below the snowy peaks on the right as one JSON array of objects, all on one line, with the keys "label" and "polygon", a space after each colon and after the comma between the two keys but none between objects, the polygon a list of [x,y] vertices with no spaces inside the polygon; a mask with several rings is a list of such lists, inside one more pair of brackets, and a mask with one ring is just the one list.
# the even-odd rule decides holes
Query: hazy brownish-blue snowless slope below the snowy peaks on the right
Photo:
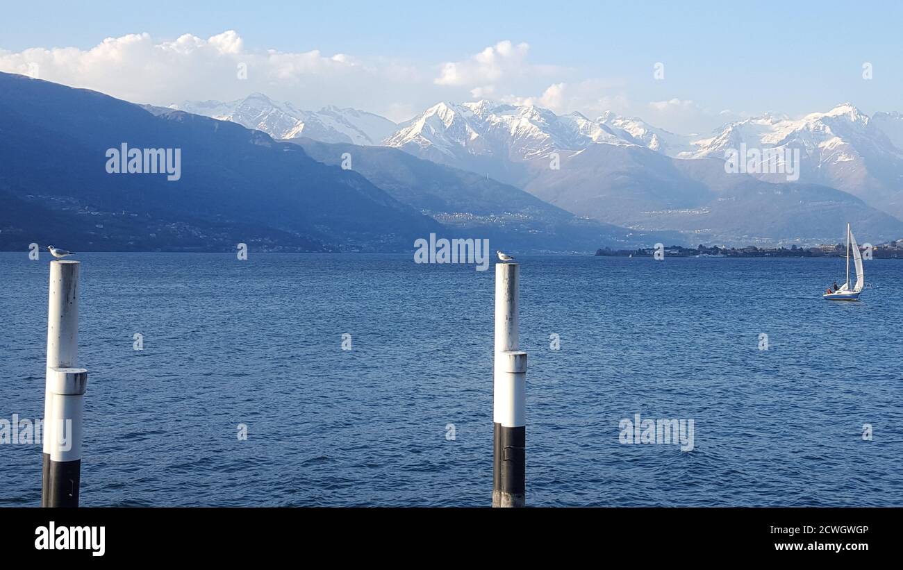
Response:
[{"label": "hazy brownish-blue snowless slope below the snowy peaks on the right", "polygon": [[581,216],[678,231],[689,243],[822,243],[847,222],[874,243],[903,232],[897,218],[834,188],[768,183],[728,174],[716,159],[671,159],[606,144],[574,154],[527,190]]}]

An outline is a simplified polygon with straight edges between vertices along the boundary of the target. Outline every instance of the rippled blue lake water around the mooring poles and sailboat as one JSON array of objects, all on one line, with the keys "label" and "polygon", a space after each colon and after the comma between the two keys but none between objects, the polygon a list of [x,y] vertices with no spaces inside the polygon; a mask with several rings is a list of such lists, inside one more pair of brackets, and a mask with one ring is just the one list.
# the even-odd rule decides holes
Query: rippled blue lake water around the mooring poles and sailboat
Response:
[{"label": "rippled blue lake water around the mooring poles and sailboat", "polygon": [[[0,253],[7,420],[43,413],[46,257]],[[491,270],[78,259],[82,505],[489,504]],[[528,504],[903,505],[903,262],[842,303],[836,259],[520,261]],[[636,413],[692,418],[694,449],[619,443]],[[0,476],[0,504],[38,505],[41,446],[0,445]]]}]

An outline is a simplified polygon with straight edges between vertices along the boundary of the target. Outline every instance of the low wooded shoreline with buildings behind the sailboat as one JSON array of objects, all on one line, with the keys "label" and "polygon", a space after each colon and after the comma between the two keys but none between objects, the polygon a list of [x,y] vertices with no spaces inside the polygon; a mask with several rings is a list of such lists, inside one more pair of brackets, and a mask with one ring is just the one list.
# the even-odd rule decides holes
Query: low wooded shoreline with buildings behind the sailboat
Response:
[{"label": "low wooded shoreline with buildings behind the sailboat", "polygon": [[[860,246],[863,257],[866,259],[903,259],[903,239],[887,244]],[[661,249],[661,248],[659,248]],[[640,257],[653,255],[656,248],[647,247],[638,250],[613,250],[610,247],[596,250],[597,256],[609,257]],[[846,256],[845,244],[820,244],[812,247],[721,247],[718,245],[706,246],[699,244],[697,247],[684,247],[681,245],[669,245],[664,248],[664,253],[670,257],[844,257]]]}]

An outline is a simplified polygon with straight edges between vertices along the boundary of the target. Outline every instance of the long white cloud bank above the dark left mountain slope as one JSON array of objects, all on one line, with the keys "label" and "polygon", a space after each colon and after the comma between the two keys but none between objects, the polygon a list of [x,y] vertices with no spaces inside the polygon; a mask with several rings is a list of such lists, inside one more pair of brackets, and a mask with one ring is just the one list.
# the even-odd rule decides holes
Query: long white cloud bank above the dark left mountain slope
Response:
[{"label": "long white cloud bank above the dark left mountain slope", "polygon": [[[239,67],[247,69],[246,78],[239,77]],[[428,77],[417,77],[394,61],[369,64],[317,50],[248,50],[232,30],[207,39],[191,33],[174,40],[126,34],[87,50],[0,51],[0,71],[36,71],[49,81],[161,106],[186,99],[231,100],[260,91],[304,108],[336,104],[379,112],[396,103],[399,91],[412,83],[432,85]]]}]

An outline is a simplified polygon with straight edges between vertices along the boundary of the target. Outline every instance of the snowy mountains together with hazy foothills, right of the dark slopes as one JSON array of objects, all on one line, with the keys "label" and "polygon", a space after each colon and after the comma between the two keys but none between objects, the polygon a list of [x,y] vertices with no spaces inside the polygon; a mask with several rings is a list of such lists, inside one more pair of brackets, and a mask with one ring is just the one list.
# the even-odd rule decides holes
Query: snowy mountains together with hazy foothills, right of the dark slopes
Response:
[{"label": "snowy mountains together with hazy foothills, right of the dark slopes", "polygon": [[[369,133],[366,144],[376,136]],[[312,132],[305,138],[334,142]],[[443,102],[397,124],[381,143],[523,188],[576,216],[678,232],[687,243],[818,243],[835,240],[845,221],[869,227],[875,240],[903,234],[903,117],[869,117],[850,104],[798,120],[749,118],[703,136],[611,112],[589,119],[488,100]],[[741,145],[796,149],[798,180],[757,172],[765,170],[757,168],[761,159],[749,163],[751,173],[728,174],[726,152]],[[373,181],[375,174],[365,176]]]}]

